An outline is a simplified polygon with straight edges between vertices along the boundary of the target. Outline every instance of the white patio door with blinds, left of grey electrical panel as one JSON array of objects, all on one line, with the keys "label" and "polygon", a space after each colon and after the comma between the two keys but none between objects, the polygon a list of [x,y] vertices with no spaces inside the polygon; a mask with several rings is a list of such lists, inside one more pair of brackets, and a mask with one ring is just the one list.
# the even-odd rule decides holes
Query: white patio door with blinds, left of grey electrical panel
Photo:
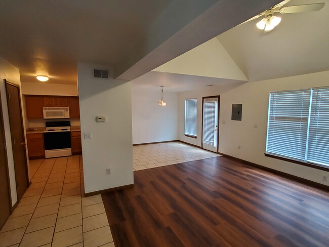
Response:
[{"label": "white patio door with blinds, left of grey electrical panel", "polygon": [[203,98],[202,148],[217,152],[218,146],[218,97]]}]

